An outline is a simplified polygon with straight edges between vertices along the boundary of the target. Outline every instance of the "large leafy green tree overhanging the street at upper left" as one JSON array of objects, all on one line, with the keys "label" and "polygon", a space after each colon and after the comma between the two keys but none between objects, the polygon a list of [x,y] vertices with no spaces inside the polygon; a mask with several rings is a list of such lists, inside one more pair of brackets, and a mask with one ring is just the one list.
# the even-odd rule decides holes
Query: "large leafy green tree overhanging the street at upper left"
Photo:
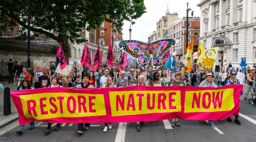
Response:
[{"label": "large leafy green tree overhanging the street at upper left", "polygon": [[[68,59],[71,57],[68,39],[72,43],[87,41],[78,34],[86,23],[87,31],[106,21],[112,23],[112,28],[116,26],[114,32],[121,32],[124,20],[134,24],[133,20],[141,17],[145,9],[144,0],[30,0],[30,18],[33,18],[30,30],[61,43]],[[23,26],[20,35],[26,36],[27,21],[28,0],[0,0],[0,22],[5,23],[0,31],[14,30],[17,22]]]}]

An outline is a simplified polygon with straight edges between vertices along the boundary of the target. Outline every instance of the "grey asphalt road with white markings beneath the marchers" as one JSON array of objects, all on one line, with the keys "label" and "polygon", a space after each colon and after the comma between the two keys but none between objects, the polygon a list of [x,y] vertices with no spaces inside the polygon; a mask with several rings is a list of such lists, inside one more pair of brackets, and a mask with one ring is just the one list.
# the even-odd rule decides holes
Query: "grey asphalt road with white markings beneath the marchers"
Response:
[{"label": "grey asphalt road with white markings beneath the marchers", "polygon": [[[250,98],[250,95],[248,96]],[[14,134],[4,142],[255,142],[256,138],[256,104],[252,105],[240,98],[239,120],[227,122],[226,119],[214,121],[216,128],[211,128],[207,122],[197,120],[179,119],[180,127],[170,128],[171,119],[158,122],[145,122],[141,131],[136,131],[136,123],[113,123],[112,129],[103,132],[103,123],[92,123],[89,130],[84,130],[83,135],[77,135],[77,124],[65,124],[60,130],[45,134],[47,123],[35,122],[34,130],[29,130],[25,125],[23,134]],[[235,116],[231,116],[234,121]],[[40,123],[38,125],[38,123]],[[61,124],[63,125],[63,124]],[[0,129],[0,135],[6,131],[17,131],[18,121]]]}]

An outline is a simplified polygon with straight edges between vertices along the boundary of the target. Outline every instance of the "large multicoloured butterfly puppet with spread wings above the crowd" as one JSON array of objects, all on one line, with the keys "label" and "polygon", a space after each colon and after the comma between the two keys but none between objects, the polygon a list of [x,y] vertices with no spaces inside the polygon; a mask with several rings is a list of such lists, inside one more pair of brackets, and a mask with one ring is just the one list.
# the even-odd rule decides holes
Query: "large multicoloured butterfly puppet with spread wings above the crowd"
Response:
[{"label": "large multicoloured butterfly puppet with spread wings above the crowd", "polygon": [[176,39],[163,38],[151,43],[150,38],[148,38],[148,43],[136,40],[116,41],[115,43],[119,49],[137,59],[140,67],[145,70],[151,57],[154,69],[162,66],[161,58],[178,41]]}]

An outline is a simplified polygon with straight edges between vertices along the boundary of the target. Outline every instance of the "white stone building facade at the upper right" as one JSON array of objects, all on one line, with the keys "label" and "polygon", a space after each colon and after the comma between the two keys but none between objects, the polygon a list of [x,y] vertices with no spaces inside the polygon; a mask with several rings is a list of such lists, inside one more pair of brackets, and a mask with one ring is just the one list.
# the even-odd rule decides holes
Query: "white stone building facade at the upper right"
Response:
[{"label": "white stone building facade at the upper right", "polygon": [[256,0],[201,0],[201,36],[204,49],[219,46],[215,65],[239,67],[246,58],[256,62]]}]

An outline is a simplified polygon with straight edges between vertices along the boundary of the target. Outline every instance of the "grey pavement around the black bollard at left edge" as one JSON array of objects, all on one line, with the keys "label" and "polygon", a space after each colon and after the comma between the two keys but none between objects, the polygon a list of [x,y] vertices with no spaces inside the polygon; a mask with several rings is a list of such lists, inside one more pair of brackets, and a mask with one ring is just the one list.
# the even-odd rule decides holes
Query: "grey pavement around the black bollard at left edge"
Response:
[{"label": "grey pavement around the black bollard at left edge", "polygon": [[[18,81],[16,81],[17,83]],[[8,84],[8,81],[3,81],[0,82],[1,84],[3,84],[3,87],[9,87],[10,91],[17,91],[17,84],[14,85],[14,83]],[[9,123],[15,121],[18,119],[18,111],[17,108],[15,107],[15,104],[12,101],[11,98],[11,114],[9,114],[8,116],[4,116],[3,115],[3,93],[4,90],[0,90],[0,128],[2,128],[5,125],[8,125]]]}]

